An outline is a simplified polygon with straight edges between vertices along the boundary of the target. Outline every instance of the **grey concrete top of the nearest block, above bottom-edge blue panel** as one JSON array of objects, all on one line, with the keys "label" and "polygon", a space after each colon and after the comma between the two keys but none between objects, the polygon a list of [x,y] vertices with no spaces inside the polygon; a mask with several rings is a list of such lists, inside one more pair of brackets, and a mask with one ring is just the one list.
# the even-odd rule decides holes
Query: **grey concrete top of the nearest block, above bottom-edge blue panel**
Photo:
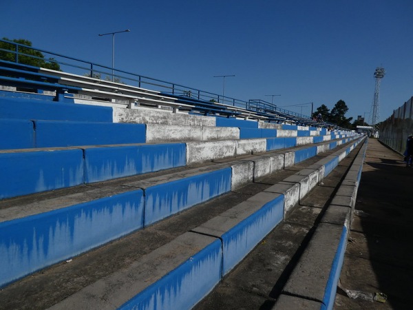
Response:
[{"label": "grey concrete top of the nearest block, above bottom-edge blue panel", "polygon": [[[168,273],[177,269],[187,260],[191,260],[191,256],[197,254],[204,247],[211,245],[215,240],[216,238],[191,232],[182,234],[155,251],[142,256],[127,269],[117,271],[94,282],[58,304],[54,304],[50,309],[118,309],[125,302],[134,298],[137,293],[140,293],[160,278],[167,276]],[[217,264],[215,263],[215,265]],[[193,268],[199,272],[200,267]],[[209,274],[215,273],[214,278],[218,282],[220,278],[220,259],[215,269],[208,271]],[[193,278],[192,280],[193,287],[197,287],[197,283],[202,287],[198,279]],[[175,291],[169,292],[171,296],[165,298],[171,298],[171,300],[178,298],[181,293],[182,295],[186,293],[180,293],[181,289],[189,288],[182,285],[182,287],[173,287],[173,289]],[[162,289],[159,293],[162,293]],[[182,298],[182,296],[180,297]],[[158,302],[160,301],[158,300]],[[162,305],[162,302],[160,302],[160,305]]]}]

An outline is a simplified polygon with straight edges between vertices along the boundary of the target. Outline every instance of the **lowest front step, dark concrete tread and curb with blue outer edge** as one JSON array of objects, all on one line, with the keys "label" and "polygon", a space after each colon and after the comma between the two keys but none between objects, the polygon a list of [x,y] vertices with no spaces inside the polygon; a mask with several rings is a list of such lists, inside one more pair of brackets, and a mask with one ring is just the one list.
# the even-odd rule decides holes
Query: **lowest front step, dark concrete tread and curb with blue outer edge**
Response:
[{"label": "lowest front step, dark concrete tread and curb with blue outer edge", "polygon": [[344,158],[194,309],[332,309],[365,152]]}]

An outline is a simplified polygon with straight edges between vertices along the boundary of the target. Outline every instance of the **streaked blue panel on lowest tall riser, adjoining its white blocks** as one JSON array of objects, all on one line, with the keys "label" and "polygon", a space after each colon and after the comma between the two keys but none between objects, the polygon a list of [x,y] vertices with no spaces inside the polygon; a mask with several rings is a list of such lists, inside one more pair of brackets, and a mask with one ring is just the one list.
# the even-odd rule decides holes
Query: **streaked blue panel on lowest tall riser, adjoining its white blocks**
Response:
[{"label": "streaked blue panel on lowest tall riser, adjoining its white blocks", "polygon": [[222,235],[223,276],[231,271],[284,218],[284,195],[266,203]]}]

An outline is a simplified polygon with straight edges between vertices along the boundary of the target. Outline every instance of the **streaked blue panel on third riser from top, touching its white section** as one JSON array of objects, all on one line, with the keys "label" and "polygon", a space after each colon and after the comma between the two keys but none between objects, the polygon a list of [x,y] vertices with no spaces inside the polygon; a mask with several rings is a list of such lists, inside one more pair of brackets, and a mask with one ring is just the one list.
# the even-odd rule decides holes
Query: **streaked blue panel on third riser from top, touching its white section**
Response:
[{"label": "streaked blue panel on third riser from top, touching its white section", "polygon": [[184,143],[85,149],[85,182],[123,178],[187,164]]}]

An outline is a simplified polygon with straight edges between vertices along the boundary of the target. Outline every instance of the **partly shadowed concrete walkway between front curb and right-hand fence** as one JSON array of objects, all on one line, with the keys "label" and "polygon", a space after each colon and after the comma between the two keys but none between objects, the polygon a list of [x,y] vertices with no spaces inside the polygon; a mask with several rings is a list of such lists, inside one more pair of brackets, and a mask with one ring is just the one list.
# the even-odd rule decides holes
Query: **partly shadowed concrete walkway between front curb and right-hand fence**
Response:
[{"label": "partly shadowed concrete walkway between front curb and right-hand fence", "polygon": [[[334,309],[413,309],[413,168],[376,139],[368,141],[355,209]],[[369,300],[379,292],[388,300]]]}]

